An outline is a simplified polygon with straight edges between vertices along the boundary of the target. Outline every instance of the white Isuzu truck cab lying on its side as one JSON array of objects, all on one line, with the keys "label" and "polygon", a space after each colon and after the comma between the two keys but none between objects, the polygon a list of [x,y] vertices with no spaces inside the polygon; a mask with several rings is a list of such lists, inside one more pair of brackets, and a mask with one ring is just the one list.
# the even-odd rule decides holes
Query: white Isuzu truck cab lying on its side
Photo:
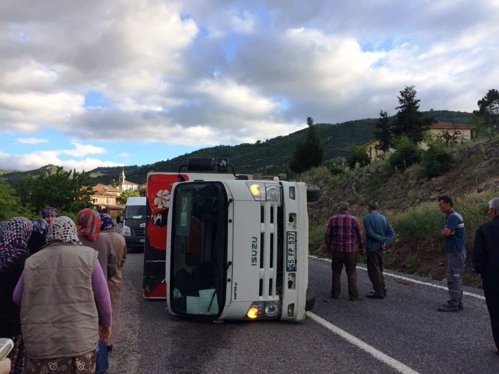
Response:
[{"label": "white Isuzu truck cab lying on its side", "polygon": [[[190,180],[232,169],[234,179]],[[308,285],[308,201],[318,189],[249,180],[227,159],[190,158],[168,199],[166,297],[178,316],[301,321]],[[308,193],[307,193],[308,192]]]}]

